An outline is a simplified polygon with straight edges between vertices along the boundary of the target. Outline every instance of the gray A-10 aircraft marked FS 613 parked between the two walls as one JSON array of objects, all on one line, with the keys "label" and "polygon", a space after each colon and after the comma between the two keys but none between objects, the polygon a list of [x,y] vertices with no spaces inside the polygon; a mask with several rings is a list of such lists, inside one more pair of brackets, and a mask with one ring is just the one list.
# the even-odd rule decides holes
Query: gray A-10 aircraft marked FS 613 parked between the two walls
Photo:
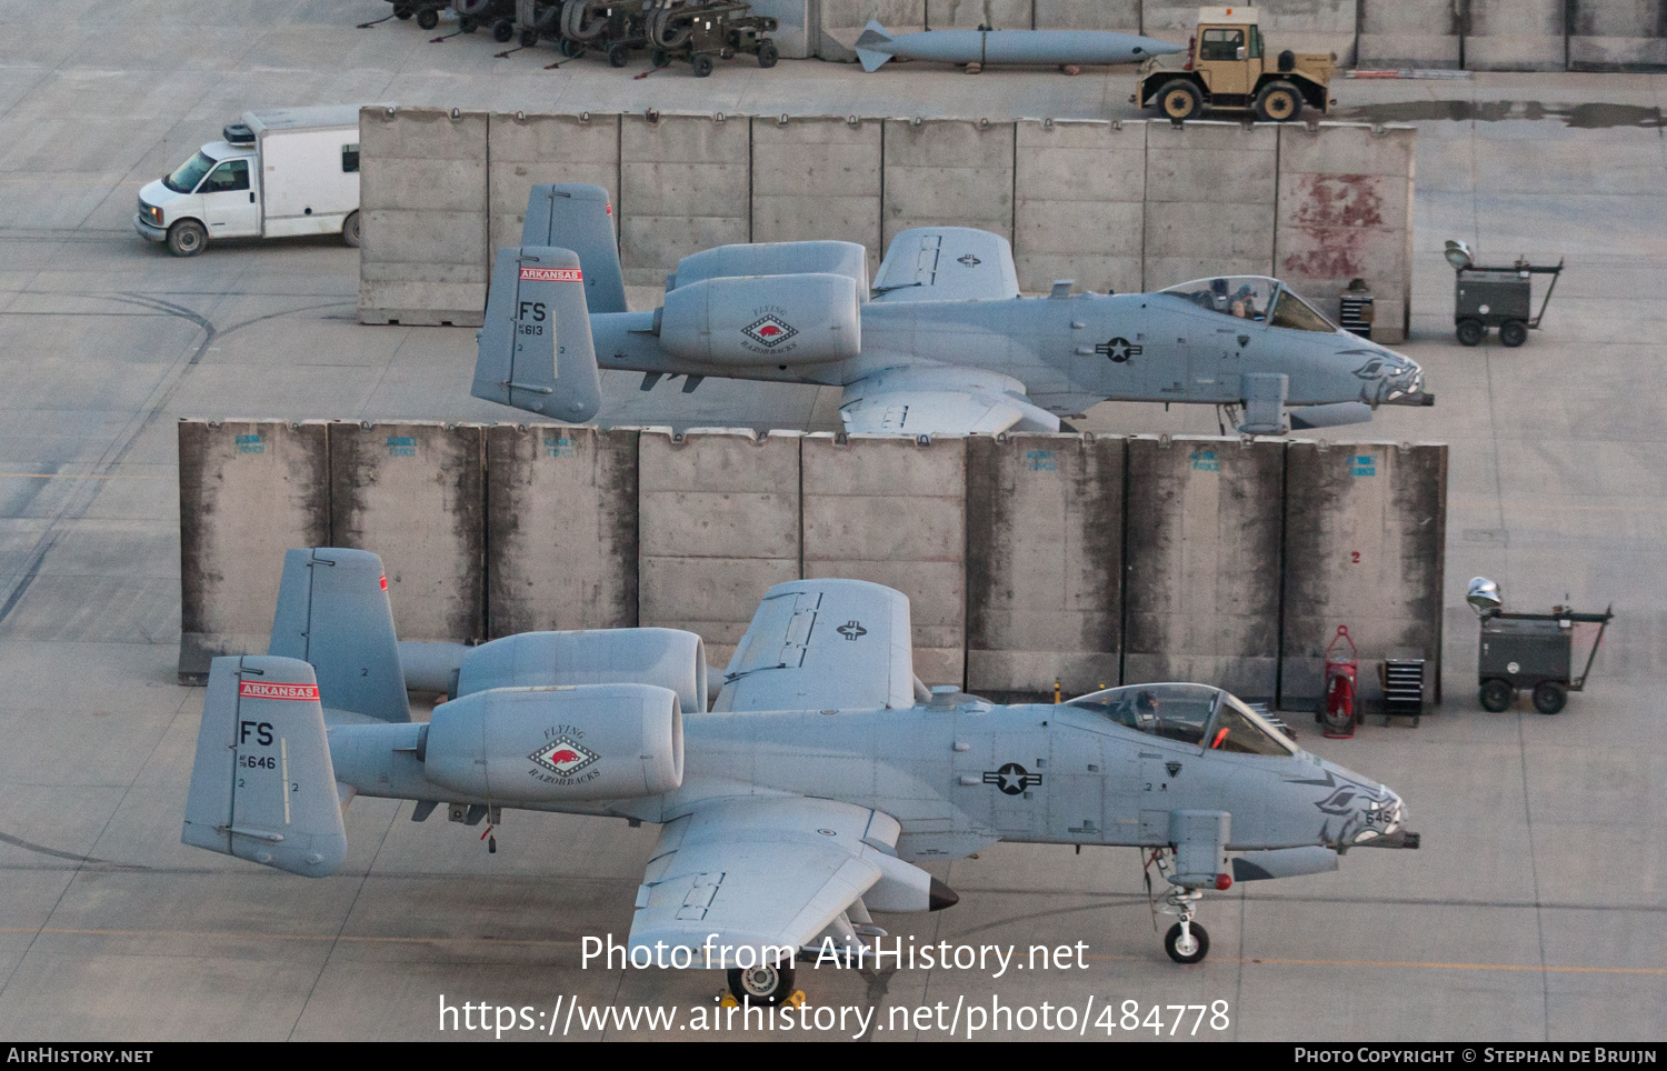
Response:
[{"label": "gray A-10 aircraft marked FS 613 parked between the two walls", "polygon": [[[1430,405],[1424,370],[1339,330],[1279,280],[1222,276],[1157,293],[1022,298],[1007,240],[905,230],[869,283],[850,242],[723,245],[678,262],[655,311],[625,308],[608,195],[538,185],[518,248],[498,250],[478,333],[477,398],[585,421],[600,368],[842,386],[847,431],[1059,431],[1107,401],[1244,411],[1247,435]],[[588,313],[588,315],[587,315]]]}]

